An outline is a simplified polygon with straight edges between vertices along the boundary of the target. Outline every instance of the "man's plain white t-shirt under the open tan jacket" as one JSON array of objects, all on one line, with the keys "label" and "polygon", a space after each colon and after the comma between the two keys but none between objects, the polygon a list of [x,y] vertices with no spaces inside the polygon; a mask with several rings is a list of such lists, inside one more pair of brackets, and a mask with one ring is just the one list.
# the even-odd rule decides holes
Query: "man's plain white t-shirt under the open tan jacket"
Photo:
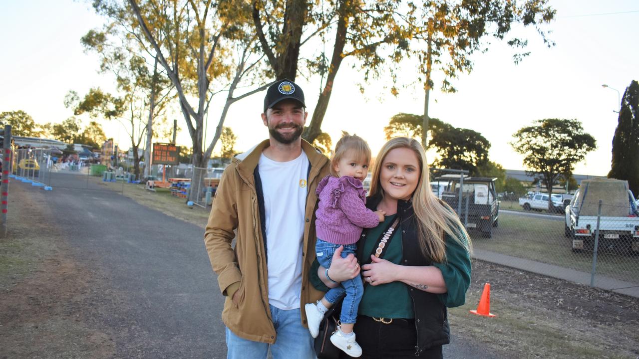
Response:
[{"label": "man's plain white t-shirt under the open tan jacket", "polygon": [[266,212],[268,303],[283,310],[300,307],[308,169],[304,151],[288,162],[276,162],[264,154],[259,157]]}]

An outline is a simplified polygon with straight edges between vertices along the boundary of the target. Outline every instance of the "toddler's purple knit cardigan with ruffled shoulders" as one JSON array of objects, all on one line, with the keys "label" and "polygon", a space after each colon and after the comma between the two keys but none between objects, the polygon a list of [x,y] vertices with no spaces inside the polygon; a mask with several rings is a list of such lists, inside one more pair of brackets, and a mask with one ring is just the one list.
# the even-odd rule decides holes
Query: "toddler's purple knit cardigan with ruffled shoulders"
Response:
[{"label": "toddler's purple knit cardigan with ruffled shoulders", "polygon": [[315,227],[320,240],[339,245],[359,240],[362,227],[376,227],[380,220],[366,208],[366,190],[352,176],[326,176],[316,190],[319,198]]}]

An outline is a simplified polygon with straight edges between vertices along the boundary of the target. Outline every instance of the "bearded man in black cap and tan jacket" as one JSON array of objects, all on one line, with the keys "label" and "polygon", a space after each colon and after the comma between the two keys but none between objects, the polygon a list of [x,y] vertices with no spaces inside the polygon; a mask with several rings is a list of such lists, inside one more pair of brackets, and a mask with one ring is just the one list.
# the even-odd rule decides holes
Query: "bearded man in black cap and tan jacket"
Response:
[{"label": "bearded man in black cap and tan jacket", "polygon": [[300,308],[323,296],[309,269],[315,189],[329,161],[300,138],[307,115],[300,86],[270,86],[261,115],[268,139],[233,158],[215,194],[204,242],[226,296],[228,358],[266,358],[269,348],[275,359],[315,357]]}]

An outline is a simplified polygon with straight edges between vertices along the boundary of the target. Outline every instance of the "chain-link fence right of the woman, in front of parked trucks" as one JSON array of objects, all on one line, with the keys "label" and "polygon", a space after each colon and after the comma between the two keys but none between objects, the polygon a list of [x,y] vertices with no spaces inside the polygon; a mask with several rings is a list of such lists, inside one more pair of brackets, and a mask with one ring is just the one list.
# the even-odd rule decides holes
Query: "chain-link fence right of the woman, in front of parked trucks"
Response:
[{"label": "chain-link fence right of the woman, in front of parked trucks", "polygon": [[461,183],[459,174],[441,170],[431,178],[433,192],[465,224],[476,257],[606,289],[639,287],[639,211],[627,189],[590,189],[589,201],[578,191],[548,210],[548,195],[545,208],[531,207],[528,197],[503,206],[490,178]]}]

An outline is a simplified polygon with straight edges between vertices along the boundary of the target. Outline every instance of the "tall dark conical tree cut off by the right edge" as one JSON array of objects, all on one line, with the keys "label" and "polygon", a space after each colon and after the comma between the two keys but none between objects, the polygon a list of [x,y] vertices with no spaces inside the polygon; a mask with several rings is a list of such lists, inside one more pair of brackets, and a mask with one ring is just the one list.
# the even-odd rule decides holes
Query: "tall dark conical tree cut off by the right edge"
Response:
[{"label": "tall dark conical tree cut off by the right edge", "polygon": [[624,91],[619,120],[612,138],[612,168],[608,178],[626,179],[639,195],[639,83],[633,80]]}]

